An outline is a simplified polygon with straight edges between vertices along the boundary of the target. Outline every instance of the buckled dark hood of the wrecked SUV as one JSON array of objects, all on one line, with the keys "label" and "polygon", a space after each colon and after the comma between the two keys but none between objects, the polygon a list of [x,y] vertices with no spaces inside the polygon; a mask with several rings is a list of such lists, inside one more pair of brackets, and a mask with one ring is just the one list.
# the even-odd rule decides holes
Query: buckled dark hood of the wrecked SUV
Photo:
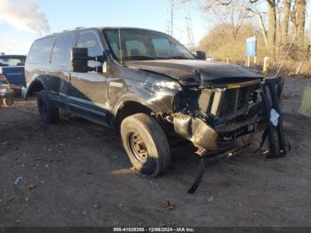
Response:
[{"label": "buckled dark hood of the wrecked SUV", "polygon": [[221,84],[262,78],[251,68],[206,60],[131,60],[124,65],[171,76],[181,84],[209,81]]}]

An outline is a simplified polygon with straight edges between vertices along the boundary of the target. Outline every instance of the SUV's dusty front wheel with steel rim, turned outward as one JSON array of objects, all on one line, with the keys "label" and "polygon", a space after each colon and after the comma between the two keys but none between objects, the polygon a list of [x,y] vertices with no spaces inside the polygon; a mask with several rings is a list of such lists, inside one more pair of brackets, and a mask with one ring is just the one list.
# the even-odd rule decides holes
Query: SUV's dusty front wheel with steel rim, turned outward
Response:
[{"label": "SUV's dusty front wheel with steel rim, turned outward", "polygon": [[138,172],[156,177],[171,165],[169,141],[151,116],[140,113],[126,117],[121,124],[121,137],[124,149]]}]

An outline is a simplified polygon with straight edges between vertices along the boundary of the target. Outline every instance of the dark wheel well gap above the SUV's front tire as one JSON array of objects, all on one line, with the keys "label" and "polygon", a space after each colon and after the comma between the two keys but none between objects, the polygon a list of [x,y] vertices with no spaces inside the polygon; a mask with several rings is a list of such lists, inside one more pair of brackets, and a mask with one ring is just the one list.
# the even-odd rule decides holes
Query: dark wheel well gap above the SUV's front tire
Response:
[{"label": "dark wheel well gap above the SUV's front tire", "polygon": [[124,102],[116,114],[116,132],[119,132],[120,125],[127,116],[132,116],[137,113],[146,113],[151,115],[152,110],[138,102]]}]

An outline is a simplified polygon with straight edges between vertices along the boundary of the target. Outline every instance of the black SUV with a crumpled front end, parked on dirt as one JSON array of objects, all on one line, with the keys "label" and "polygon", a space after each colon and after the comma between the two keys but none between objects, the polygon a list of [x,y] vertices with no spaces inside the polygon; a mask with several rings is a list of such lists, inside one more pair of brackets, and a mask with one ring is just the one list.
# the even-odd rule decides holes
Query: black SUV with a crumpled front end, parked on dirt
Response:
[{"label": "black SUV with a crumpled front end, parked on dirt", "polygon": [[243,149],[262,128],[262,76],[206,61],[173,37],[140,28],[77,28],[34,42],[25,99],[37,94],[46,124],[59,108],[120,132],[132,165],[155,177],[171,164],[170,141],[199,156]]}]

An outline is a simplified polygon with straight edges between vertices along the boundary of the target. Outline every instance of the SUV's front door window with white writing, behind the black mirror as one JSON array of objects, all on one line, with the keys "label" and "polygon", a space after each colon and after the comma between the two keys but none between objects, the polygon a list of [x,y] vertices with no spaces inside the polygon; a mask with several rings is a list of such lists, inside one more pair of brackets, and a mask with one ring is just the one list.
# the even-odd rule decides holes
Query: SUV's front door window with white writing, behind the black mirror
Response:
[{"label": "SUV's front door window with white writing, behind the black mirror", "polygon": [[[92,57],[103,55],[103,50],[101,49],[100,41],[98,37],[92,32],[81,34],[76,42],[76,47],[88,48],[89,56]],[[100,62],[89,60],[88,66],[92,68],[97,67],[100,66]]]}]

